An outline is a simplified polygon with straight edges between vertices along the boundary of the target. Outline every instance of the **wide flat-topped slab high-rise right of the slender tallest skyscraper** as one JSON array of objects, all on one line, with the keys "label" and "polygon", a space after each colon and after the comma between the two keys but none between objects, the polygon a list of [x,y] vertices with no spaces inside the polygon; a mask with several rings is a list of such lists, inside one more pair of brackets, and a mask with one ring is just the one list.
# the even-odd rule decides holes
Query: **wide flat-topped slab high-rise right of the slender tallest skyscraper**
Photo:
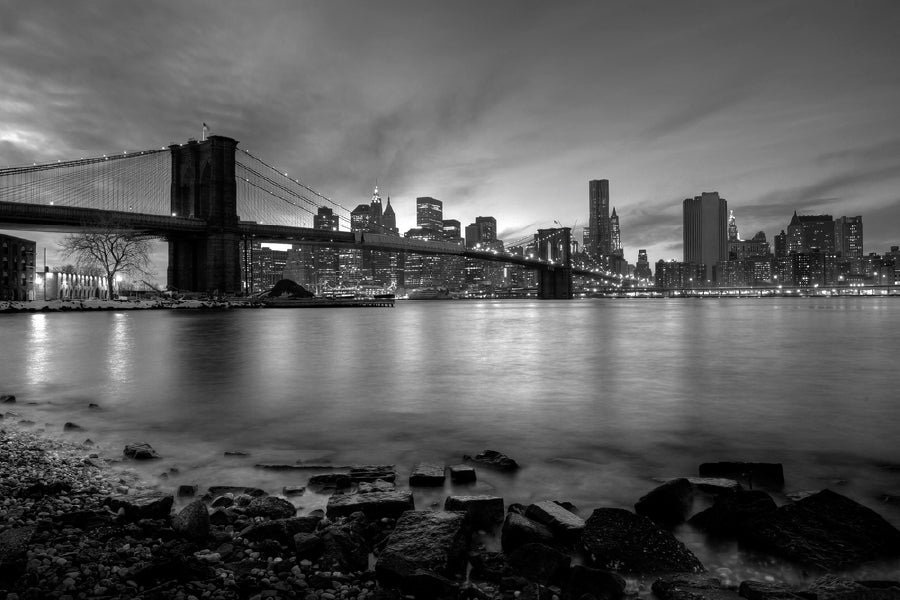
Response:
[{"label": "wide flat-topped slab high-rise right of the slender tallest skyscraper", "polygon": [[728,260],[728,203],[718,192],[687,198],[684,209],[684,262],[705,265],[706,279]]}]

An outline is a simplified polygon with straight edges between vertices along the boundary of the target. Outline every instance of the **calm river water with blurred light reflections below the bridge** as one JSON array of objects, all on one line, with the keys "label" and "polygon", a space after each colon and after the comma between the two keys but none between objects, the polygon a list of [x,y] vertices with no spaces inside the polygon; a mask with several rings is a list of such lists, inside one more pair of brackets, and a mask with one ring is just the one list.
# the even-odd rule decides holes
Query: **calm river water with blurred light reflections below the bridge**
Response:
[{"label": "calm river water with blurred light reflections below the bridge", "polygon": [[[900,462],[896,299],[0,315],[0,334],[15,410],[48,431],[74,421],[87,431],[66,435],[110,455],[151,443],[164,459],[148,478],[180,471],[164,485],[274,490],[306,475],[253,463],[297,460],[396,464],[403,478],[491,448],[524,468],[482,471],[476,491],[589,514],[701,462],[763,460],[785,464],[786,491],[832,487],[900,525],[878,500],[900,493],[878,466]],[[442,498],[417,493],[417,506]],[[708,567],[777,569],[681,536]]]}]

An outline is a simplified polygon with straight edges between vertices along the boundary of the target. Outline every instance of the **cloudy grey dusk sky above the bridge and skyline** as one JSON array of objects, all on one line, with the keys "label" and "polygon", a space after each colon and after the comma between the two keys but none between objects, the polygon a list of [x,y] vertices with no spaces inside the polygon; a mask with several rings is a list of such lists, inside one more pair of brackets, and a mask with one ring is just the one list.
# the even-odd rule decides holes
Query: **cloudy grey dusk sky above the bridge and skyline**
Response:
[{"label": "cloudy grey dusk sky above the bridge and skyline", "polygon": [[[344,206],[377,181],[401,232],[432,196],[501,238],[580,239],[608,179],[631,262],[681,260],[681,203],[705,191],[744,238],[862,215],[881,253],[900,244],[898,32],[896,0],[0,0],[0,166],[205,122]],[[51,235],[13,235],[54,260]]]}]

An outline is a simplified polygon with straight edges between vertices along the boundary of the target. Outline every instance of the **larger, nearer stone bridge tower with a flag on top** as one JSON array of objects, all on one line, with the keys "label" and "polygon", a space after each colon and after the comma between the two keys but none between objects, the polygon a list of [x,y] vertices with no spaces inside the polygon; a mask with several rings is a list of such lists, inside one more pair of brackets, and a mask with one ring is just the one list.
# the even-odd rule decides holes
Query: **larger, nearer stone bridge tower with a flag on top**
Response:
[{"label": "larger, nearer stone bridge tower with a flag on top", "polygon": [[170,286],[196,292],[241,289],[234,152],[237,141],[212,135],[169,146],[173,216],[203,219],[206,232],[169,237]]}]

